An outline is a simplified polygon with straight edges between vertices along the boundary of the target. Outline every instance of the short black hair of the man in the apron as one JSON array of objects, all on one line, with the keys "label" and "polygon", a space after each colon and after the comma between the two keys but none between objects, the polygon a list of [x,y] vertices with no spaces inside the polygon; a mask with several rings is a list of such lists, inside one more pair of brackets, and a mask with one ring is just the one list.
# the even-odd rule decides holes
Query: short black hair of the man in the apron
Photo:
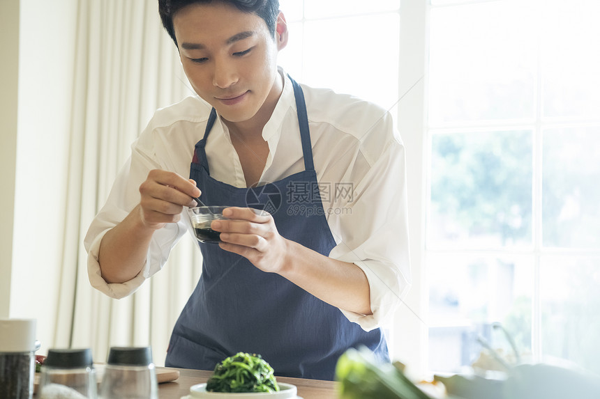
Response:
[{"label": "short black hair of the man in the apron", "polygon": [[[267,28],[273,38],[275,37],[275,29],[277,26],[277,16],[279,15],[279,0],[215,0],[222,3],[228,3],[238,8],[244,13],[254,13],[267,22]],[[194,3],[212,3],[213,0],[158,0],[158,15],[163,22],[165,31],[175,42],[177,46],[177,38],[175,38],[175,29],[173,27],[173,15],[181,8]]]}]

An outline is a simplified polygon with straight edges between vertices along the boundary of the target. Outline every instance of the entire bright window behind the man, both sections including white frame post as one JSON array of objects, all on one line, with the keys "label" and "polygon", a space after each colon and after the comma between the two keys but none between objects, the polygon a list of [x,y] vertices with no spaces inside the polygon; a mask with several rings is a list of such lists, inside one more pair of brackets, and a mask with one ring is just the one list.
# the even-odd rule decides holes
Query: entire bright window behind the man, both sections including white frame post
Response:
[{"label": "entire bright window behind the man, both sections including white frame post", "polygon": [[281,8],[292,77],[386,109],[410,89],[397,112],[413,288],[391,356],[458,372],[493,363],[488,345],[600,372],[600,2]]}]

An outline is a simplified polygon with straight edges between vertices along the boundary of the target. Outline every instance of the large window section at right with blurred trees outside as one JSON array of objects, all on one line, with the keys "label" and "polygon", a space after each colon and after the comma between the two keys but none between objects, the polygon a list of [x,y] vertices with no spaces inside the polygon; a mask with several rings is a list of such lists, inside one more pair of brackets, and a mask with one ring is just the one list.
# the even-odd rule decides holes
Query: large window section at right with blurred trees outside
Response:
[{"label": "large window section at right with blurred trees outside", "polygon": [[514,361],[503,329],[598,372],[600,4],[429,11],[428,369]]}]

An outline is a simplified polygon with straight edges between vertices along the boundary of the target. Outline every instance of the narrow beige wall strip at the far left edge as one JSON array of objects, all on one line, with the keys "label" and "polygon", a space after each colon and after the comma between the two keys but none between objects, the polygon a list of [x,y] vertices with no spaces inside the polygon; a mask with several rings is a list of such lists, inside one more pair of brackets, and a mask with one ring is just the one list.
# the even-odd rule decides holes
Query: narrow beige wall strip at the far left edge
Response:
[{"label": "narrow beige wall strip at the far left edge", "polygon": [[19,0],[0,1],[0,58],[0,318],[6,318],[13,259]]}]

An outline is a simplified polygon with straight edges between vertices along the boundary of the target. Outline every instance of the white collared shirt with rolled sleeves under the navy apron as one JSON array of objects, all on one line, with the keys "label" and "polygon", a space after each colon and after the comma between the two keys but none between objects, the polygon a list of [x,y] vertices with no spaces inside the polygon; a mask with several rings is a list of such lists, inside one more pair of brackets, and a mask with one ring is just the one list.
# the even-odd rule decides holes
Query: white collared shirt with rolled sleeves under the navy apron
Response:
[{"label": "white collared shirt with rolled sleeves under the navy apron", "polygon": [[[280,73],[285,76],[283,93],[262,132],[269,144],[262,182],[304,170],[292,82],[283,70]],[[336,240],[329,257],[358,265],[370,285],[373,315],[340,311],[370,331],[382,325],[410,286],[405,148],[384,109],[327,89],[302,88],[323,208]],[[186,231],[193,234],[188,218],[182,217],[177,224],[156,230],[147,262],[135,278],[106,283],[100,275],[100,241],[140,203],[138,189],[149,171],[163,169],[188,178],[194,146],[204,136],[210,110],[197,96],[159,109],[133,143],[130,159],[84,241],[90,283],[106,295],[130,295],[163,267]],[[213,178],[246,187],[229,130],[220,118],[213,125],[206,152]],[[303,211],[301,205],[298,210]]]}]

